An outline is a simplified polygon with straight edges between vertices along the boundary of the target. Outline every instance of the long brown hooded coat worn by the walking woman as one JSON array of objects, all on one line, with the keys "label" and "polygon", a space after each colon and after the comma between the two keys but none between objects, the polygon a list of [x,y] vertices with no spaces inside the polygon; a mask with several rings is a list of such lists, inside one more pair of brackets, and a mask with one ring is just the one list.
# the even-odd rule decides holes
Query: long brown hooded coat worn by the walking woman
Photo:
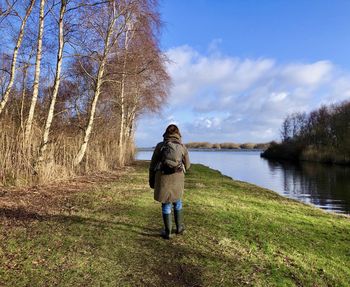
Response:
[{"label": "long brown hooded coat worn by the walking woman", "polygon": [[[164,141],[175,141],[181,142],[181,137],[178,134],[165,135]],[[161,157],[161,147],[163,142],[157,144],[151,164],[149,169],[150,181],[152,177],[155,177],[154,181],[154,199],[162,202],[175,202],[182,198],[184,192],[184,172],[176,172],[173,174],[163,174],[157,166],[159,166],[160,157]],[[190,159],[188,156],[187,148],[182,145],[183,148],[183,165],[185,170],[190,168]]]}]

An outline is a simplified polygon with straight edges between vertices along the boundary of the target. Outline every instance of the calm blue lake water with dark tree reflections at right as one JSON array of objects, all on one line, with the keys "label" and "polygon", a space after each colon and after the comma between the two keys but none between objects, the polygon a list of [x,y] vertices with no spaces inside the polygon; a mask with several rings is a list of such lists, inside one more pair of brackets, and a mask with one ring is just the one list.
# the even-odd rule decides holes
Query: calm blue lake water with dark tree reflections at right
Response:
[{"label": "calm blue lake water with dark tree reflections at right", "polygon": [[[153,151],[139,151],[150,160]],[[318,163],[292,164],[266,160],[260,151],[195,151],[192,163],[201,163],[233,179],[271,189],[283,196],[328,211],[350,214],[350,167]]]}]

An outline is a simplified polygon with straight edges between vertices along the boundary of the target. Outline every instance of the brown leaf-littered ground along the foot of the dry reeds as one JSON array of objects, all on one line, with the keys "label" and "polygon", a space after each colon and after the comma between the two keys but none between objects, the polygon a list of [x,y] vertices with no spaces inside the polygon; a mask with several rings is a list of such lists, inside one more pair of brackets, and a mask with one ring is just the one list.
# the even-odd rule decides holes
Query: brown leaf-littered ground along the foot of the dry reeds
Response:
[{"label": "brown leaf-littered ground along the foot of the dry reeds", "polygon": [[98,183],[116,181],[130,169],[78,176],[69,181],[29,188],[0,187],[0,224],[18,225],[62,211],[69,212],[74,208],[69,199],[73,194],[86,191]]}]

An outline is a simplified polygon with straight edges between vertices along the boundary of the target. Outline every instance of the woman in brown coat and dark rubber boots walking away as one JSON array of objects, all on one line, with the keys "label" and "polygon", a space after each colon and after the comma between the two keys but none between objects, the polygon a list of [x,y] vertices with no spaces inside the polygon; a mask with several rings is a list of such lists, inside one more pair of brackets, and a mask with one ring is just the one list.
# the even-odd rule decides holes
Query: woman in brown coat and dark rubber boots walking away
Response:
[{"label": "woman in brown coat and dark rubber boots walking away", "polygon": [[149,184],[154,188],[154,199],[162,203],[164,231],[162,237],[171,237],[171,207],[174,206],[176,234],[184,230],[182,196],[185,172],[190,168],[187,148],[181,143],[181,134],[176,125],[169,125],[163,134],[164,140],[157,144],[150,168]]}]

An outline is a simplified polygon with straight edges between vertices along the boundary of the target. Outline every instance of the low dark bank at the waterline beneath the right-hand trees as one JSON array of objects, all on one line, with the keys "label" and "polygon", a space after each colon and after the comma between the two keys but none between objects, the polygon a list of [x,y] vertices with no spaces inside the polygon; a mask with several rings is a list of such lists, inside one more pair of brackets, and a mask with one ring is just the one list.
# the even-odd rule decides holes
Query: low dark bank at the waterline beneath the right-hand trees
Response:
[{"label": "low dark bank at the waterline beneath the right-hand trees", "polygon": [[294,142],[271,143],[262,157],[275,160],[308,161],[326,164],[350,165],[350,155],[332,148],[315,148]]}]

